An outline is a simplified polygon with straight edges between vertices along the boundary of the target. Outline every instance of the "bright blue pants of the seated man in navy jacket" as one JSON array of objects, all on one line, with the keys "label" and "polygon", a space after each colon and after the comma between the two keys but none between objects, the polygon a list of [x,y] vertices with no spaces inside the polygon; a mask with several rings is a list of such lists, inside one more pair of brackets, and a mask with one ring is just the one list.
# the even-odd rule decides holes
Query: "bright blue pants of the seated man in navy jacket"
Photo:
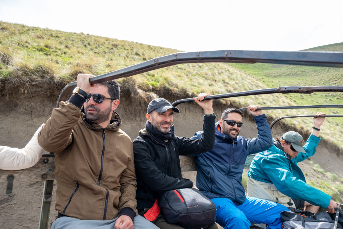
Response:
[{"label": "bright blue pants of the seated man in navy jacket", "polygon": [[228,198],[211,199],[217,206],[216,222],[225,229],[249,229],[250,222],[267,224],[269,229],[281,229],[281,211],[288,208],[265,199],[247,196],[242,205],[234,204]]}]

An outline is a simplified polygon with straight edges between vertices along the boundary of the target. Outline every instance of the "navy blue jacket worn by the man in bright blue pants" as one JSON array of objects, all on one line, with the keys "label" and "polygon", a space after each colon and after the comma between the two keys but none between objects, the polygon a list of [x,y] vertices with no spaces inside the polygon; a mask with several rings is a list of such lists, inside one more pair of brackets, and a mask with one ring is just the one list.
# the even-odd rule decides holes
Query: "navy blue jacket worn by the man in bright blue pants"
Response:
[{"label": "navy blue jacket worn by the man in bright blue pants", "polygon": [[[258,137],[232,139],[219,131],[212,150],[193,155],[197,162],[197,187],[208,198],[229,198],[240,205],[245,202],[242,181],[244,163],[248,154],[261,152],[273,144],[272,134],[265,115],[255,116]],[[192,138],[200,138],[202,131]]]}]

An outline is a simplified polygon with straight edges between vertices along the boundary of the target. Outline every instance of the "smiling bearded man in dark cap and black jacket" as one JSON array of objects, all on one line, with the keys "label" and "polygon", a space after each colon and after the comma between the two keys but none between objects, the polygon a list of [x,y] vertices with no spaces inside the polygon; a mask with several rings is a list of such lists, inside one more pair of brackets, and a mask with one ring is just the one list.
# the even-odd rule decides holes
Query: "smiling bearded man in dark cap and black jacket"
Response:
[{"label": "smiling bearded man in dark cap and black jacket", "polygon": [[[153,207],[159,193],[195,187],[192,181],[182,178],[179,155],[202,153],[214,146],[215,115],[212,100],[203,101],[208,95],[210,94],[201,93],[198,98],[193,98],[205,112],[204,134],[201,139],[175,136],[173,114],[180,111],[167,100],[158,98],[149,103],[145,128],[139,131],[139,136],[133,141],[137,209],[140,215],[149,218],[159,228],[182,228],[167,224],[162,213],[147,217],[151,212],[148,210]],[[218,227],[214,224],[209,228]]]}]

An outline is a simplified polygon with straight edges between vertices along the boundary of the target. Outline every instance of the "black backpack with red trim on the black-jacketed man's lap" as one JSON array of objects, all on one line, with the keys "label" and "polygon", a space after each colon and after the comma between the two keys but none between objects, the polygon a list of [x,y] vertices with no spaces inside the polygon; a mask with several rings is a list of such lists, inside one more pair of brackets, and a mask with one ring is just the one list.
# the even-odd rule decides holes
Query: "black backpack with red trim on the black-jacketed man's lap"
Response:
[{"label": "black backpack with red trim on the black-jacketed man's lap", "polygon": [[160,194],[157,201],[168,224],[195,229],[215,223],[216,205],[196,188],[170,190]]}]

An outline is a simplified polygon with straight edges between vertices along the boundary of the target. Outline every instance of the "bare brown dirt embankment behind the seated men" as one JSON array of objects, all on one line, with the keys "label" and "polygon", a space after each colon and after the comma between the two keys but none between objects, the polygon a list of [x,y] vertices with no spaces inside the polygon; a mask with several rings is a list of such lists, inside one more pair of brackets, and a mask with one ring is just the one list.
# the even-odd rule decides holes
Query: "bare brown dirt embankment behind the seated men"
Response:
[{"label": "bare brown dirt embankment behind the seated men", "polygon": [[[10,101],[3,98],[0,100],[0,107],[2,108],[0,116],[0,145],[24,147],[36,129],[50,117],[51,111],[56,105],[57,97],[46,98],[44,90],[37,88],[37,91],[39,93],[17,93],[16,98]],[[171,102],[181,99],[162,92],[156,92],[156,94]],[[138,131],[144,128],[146,108],[147,103],[144,100],[131,98],[128,92],[122,92],[117,112],[122,118],[121,128],[132,140],[137,137]],[[174,117],[176,135],[191,137],[196,131],[202,130],[203,111],[196,103],[180,104],[178,108],[180,109],[180,114],[176,114]],[[218,102],[214,103],[217,121],[225,108],[227,107]],[[252,118],[248,114],[244,115],[243,122],[244,126],[241,129],[240,135],[247,138],[256,137],[256,124],[252,122]],[[273,128],[273,136],[280,136],[285,131],[288,131],[288,129],[275,126]],[[342,158],[339,157],[339,154],[336,154],[335,149],[334,146],[321,141],[317,153],[312,157],[312,160],[321,164],[324,169],[327,168],[326,171],[338,172],[342,177],[343,172],[336,170],[336,168],[340,168]],[[195,172],[188,172],[185,175],[195,182]],[[5,187],[5,181],[0,181],[0,228],[37,228],[42,202],[43,181],[27,183],[14,180],[13,193],[9,196],[5,194]],[[56,186],[54,194],[55,192]],[[50,225],[57,216],[54,205],[55,195],[53,196],[50,210]]]}]

